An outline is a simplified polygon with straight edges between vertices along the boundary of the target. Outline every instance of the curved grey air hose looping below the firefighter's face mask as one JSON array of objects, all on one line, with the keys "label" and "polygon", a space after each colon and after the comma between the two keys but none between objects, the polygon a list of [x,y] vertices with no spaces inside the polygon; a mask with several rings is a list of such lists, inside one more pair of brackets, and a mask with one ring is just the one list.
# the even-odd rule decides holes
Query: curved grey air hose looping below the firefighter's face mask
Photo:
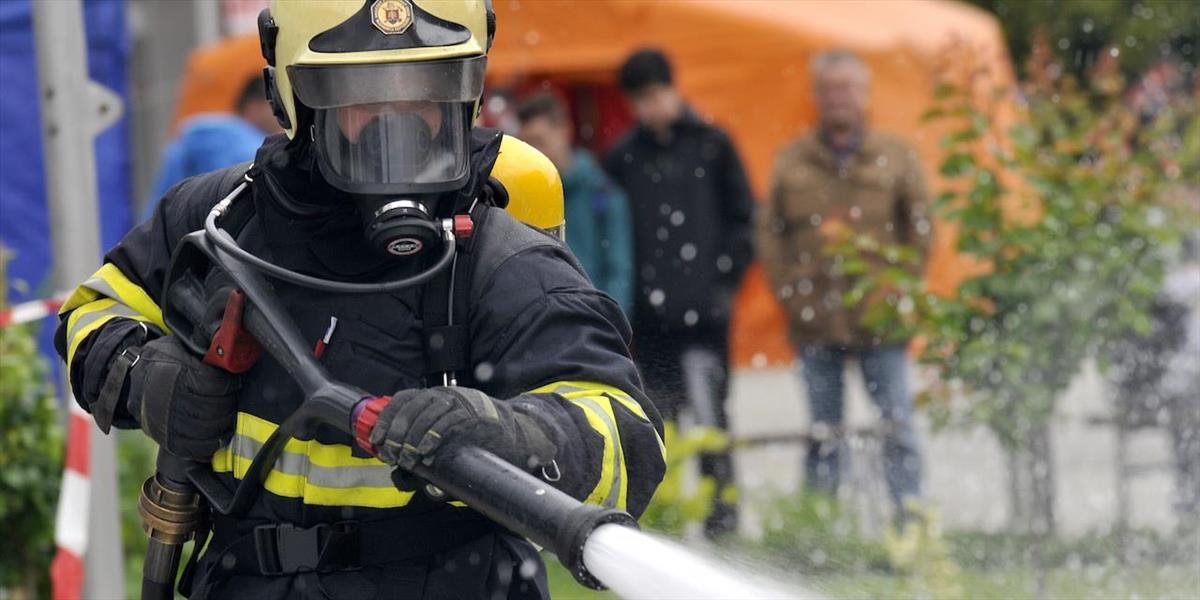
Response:
[{"label": "curved grey air hose looping below the firefighter's face mask", "polygon": [[[228,232],[221,229],[221,227],[217,226],[217,220],[221,218],[221,216],[229,210],[229,206],[232,206],[233,203],[239,197],[241,197],[242,192],[250,188],[250,184],[253,182],[253,179],[251,179],[248,174],[245,175],[244,179],[245,181],[242,181],[236,188],[229,192],[228,196],[226,196],[221,202],[216,204],[216,206],[212,206],[211,211],[209,211],[209,216],[204,220],[205,236],[210,241],[212,241],[212,244],[215,244],[217,247],[220,247],[222,251],[228,253],[234,259],[245,263],[248,266],[258,269],[264,274],[266,274],[268,276],[310,289],[317,289],[320,292],[329,292],[335,294],[379,294],[386,292],[396,292],[413,286],[419,286],[421,283],[432,280],[438,274],[444,271],[448,266],[450,266],[450,264],[454,263],[455,251],[457,250],[457,239],[467,238],[474,230],[474,223],[470,221],[469,215],[456,215],[455,218],[433,220],[428,216],[427,211],[424,211],[424,206],[421,206],[420,210],[422,210],[425,214],[424,218],[410,216],[408,217],[408,221],[404,221],[403,223],[392,224],[390,226],[390,228],[380,227],[379,228],[380,230],[383,232],[390,230],[392,232],[392,234],[380,233],[378,234],[378,236],[380,241],[390,240],[389,244],[395,244],[397,250],[402,250],[402,247],[407,244],[402,241],[404,239],[404,235],[409,235],[418,230],[422,232],[422,234],[432,234],[426,239],[437,240],[438,236],[440,236],[440,239],[444,242],[442,256],[438,257],[438,260],[434,262],[428,269],[425,269],[416,275],[382,283],[348,283],[342,281],[323,280],[320,277],[313,277],[311,275],[296,272],[286,269],[283,266],[269,263],[259,257],[256,257],[254,254],[251,254],[250,252],[246,252],[240,246],[238,246],[238,241],[234,240],[234,238],[229,235]],[[377,209],[377,211],[379,212],[378,216],[385,217],[385,221],[383,221],[384,223],[388,222],[386,218],[396,218],[395,216],[389,217],[389,215],[398,215],[398,214],[412,215],[412,211],[419,210],[416,206],[408,204],[402,205],[400,203],[412,203],[412,200],[395,200],[392,203],[384,204],[383,206]],[[395,206],[389,208],[390,204],[395,204]],[[414,204],[416,204],[418,206],[420,205],[419,203]],[[418,221],[420,221],[422,224],[419,226],[415,224]],[[416,251],[409,253],[415,254],[420,250],[421,247],[418,247]],[[397,254],[396,252],[391,252],[386,245],[384,247],[384,251],[392,254]],[[404,254],[397,254],[397,256],[404,256]]]}]

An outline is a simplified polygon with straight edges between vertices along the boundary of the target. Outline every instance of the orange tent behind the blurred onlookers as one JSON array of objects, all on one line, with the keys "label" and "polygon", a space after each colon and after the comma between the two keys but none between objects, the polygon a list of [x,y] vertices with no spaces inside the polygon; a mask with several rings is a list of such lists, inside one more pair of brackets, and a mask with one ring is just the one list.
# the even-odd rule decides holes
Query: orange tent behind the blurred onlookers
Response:
[{"label": "orange tent behind the blurred onlookers", "polygon": [[[996,19],[948,0],[497,0],[496,10],[493,83],[612,85],[630,52],[662,48],[688,100],[733,137],[760,198],[775,154],[814,121],[808,67],[815,53],[846,48],[866,60],[874,126],[916,144],[935,184],[941,128],[919,115],[932,101],[938,65],[968,60],[960,54],[970,48],[970,60],[983,58],[996,83],[1013,82]],[[228,109],[244,73],[262,67],[253,36],[198,50],[176,119]],[[946,290],[965,264],[952,233],[940,228],[936,238],[930,282]],[[784,313],[757,268],[738,296],[732,354],[740,366],[791,359]]]}]

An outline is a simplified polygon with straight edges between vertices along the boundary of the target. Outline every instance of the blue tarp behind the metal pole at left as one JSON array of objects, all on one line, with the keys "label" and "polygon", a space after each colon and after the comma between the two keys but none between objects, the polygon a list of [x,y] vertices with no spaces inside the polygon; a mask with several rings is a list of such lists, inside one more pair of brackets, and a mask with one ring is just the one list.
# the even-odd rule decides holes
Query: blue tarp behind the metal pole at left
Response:
[{"label": "blue tarp behind the metal pole at left", "polygon": [[[10,283],[23,283],[8,287],[10,301],[38,299],[54,292],[48,281],[53,251],[46,211],[31,13],[30,0],[0,1],[0,244],[16,254],[8,264]],[[103,247],[108,248],[130,229],[132,211],[130,37],[125,0],[85,1],[84,26],[91,78],[125,101],[126,116],[96,138],[98,227]],[[101,250],[96,248],[97,260]],[[52,322],[48,319],[47,325]]]}]

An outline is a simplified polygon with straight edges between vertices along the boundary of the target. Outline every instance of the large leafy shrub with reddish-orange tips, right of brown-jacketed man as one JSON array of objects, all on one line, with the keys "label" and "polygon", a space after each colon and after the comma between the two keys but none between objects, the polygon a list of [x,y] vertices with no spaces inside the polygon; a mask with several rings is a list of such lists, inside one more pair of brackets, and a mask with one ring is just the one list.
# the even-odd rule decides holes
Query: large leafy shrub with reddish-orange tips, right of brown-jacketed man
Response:
[{"label": "large leafy shrub with reddish-orange tips, right of brown-jacketed man", "polygon": [[1117,73],[1093,72],[1085,83],[1064,76],[1026,85],[1021,122],[994,136],[1014,96],[978,88],[977,79],[943,83],[926,118],[952,126],[940,166],[949,185],[935,212],[984,272],[938,298],[895,268],[911,260],[907,248],[851,233],[828,251],[868,265],[846,300],[875,298],[887,310],[868,311],[863,324],[920,335],[923,360],[965,388],[966,403],[942,395],[942,416],[985,422],[1015,446],[1045,422],[1087,359],[1148,330],[1164,248],[1196,227],[1195,212],[1169,192],[1198,176],[1200,125],[1194,97],[1141,115]]}]

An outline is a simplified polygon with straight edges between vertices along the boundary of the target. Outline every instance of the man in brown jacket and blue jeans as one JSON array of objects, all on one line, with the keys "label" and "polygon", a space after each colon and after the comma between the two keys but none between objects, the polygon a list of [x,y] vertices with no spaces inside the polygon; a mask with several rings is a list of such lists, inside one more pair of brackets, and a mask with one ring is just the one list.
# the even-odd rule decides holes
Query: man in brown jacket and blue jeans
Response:
[{"label": "man in brown jacket and blue jeans", "polygon": [[888,490],[902,509],[920,493],[905,344],[863,330],[862,306],[842,301],[854,282],[835,272],[822,248],[833,232],[850,228],[881,244],[914,246],[924,257],[930,240],[928,191],[912,148],[866,128],[870,72],[858,56],[842,50],[818,55],[812,83],[818,124],[776,161],[767,210],[758,218],[758,257],[787,308],[792,342],[804,364],[814,420],[808,485],[836,492],[842,370],[846,359],[856,358],[883,416]]}]

